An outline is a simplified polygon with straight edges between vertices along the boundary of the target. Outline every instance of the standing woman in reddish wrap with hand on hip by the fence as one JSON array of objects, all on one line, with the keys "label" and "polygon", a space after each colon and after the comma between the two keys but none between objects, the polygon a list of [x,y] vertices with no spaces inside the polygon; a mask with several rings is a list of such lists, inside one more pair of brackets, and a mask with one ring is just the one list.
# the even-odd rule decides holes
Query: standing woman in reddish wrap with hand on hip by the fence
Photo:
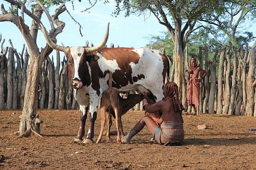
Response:
[{"label": "standing woman in reddish wrap with hand on hip by the fence", "polygon": [[[188,106],[192,106],[194,108],[193,115],[199,115],[199,96],[200,96],[200,82],[201,79],[207,75],[207,72],[203,70],[201,67],[198,67],[195,61],[195,58],[192,57],[189,61],[190,68],[188,69],[187,74],[187,99]],[[198,79],[199,72],[203,73],[202,78]]]}]

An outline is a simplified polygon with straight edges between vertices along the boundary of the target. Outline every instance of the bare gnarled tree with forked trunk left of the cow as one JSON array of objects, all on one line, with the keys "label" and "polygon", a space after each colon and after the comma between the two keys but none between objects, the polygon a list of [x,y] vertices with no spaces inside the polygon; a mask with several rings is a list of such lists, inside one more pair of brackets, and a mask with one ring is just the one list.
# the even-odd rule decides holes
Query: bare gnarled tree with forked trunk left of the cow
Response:
[{"label": "bare gnarled tree with forked trunk left of the cow", "polygon": [[[29,49],[30,54],[30,67],[29,73],[27,77],[27,86],[26,92],[24,97],[24,105],[22,111],[22,117],[20,120],[20,129],[19,133],[20,136],[29,136],[30,134],[37,134],[40,136],[40,123],[42,122],[39,119],[38,114],[36,113],[36,97],[38,91],[38,77],[39,73],[41,73],[41,65],[42,62],[46,59],[46,57],[52,52],[52,48],[49,47],[48,44],[41,51],[36,44],[38,29],[43,27],[41,23],[41,16],[43,13],[44,6],[38,1],[35,0],[37,3],[32,4],[32,12],[30,12],[27,7],[25,6],[26,0],[23,1],[16,1],[16,0],[5,0],[6,2],[11,4],[10,11],[6,11],[3,4],[1,5],[2,14],[0,15],[0,22],[12,22],[17,26],[20,30],[20,33],[23,35],[24,40]],[[51,5],[57,4],[58,2],[52,1]],[[15,6],[16,8],[12,8]],[[29,7],[29,6],[28,6]],[[18,16],[18,10],[20,10],[20,16]],[[44,11],[47,11],[44,8]],[[66,11],[66,7],[64,3],[62,3],[59,8],[55,11],[55,14],[50,17],[47,11],[47,17],[50,21],[51,30],[49,33],[49,37],[53,41],[56,42],[55,37],[62,32],[65,23],[58,20],[58,16]],[[24,14],[26,14],[24,16]],[[32,18],[32,24],[29,28],[25,22],[24,18],[30,17]],[[57,28],[53,25],[57,25]],[[40,27],[39,27],[40,25]]]}]

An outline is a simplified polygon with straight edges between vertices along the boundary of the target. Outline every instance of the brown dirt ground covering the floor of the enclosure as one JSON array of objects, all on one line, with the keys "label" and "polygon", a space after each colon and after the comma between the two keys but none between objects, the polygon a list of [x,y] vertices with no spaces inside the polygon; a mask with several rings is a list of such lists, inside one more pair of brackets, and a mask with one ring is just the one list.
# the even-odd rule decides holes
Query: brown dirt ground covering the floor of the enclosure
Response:
[{"label": "brown dirt ground covering the floor of the enclosure", "polygon": [[[146,128],[130,144],[116,136],[100,144],[74,143],[79,111],[38,110],[43,137],[17,139],[21,111],[0,111],[0,169],[3,170],[256,170],[256,117],[183,114],[185,141],[181,146],[150,142]],[[144,115],[122,117],[124,132]],[[88,119],[87,119],[88,121]],[[100,114],[94,141],[99,135]],[[198,125],[207,125],[199,130]],[[88,125],[88,123],[87,123]],[[86,130],[88,127],[86,128]],[[115,123],[111,130],[116,130]],[[76,153],[79,152],[79,153]]]}]

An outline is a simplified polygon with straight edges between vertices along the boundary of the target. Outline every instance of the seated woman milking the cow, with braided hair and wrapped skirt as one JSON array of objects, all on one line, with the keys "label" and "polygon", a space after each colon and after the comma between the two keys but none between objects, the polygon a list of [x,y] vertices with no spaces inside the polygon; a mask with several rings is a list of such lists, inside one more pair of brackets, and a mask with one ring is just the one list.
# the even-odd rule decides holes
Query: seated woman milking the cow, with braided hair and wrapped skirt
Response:
[{"label": "seated woman milking the cow, with braided hair and wrapped skirt", "polygon": [[146,125],[157,144],[180,144],[184,140],[183,119],[181,112],[184,110],[179,101],[178,86],[175,82],[167,82],[163,88],[163,100],[148,104],[148,96],[143,96],[143,108],[146,112],[154,113],[162,111],[162,116],[155,122],[151,117],[144,116],[131,131],[122,139],[123,143],[129,143]]}]

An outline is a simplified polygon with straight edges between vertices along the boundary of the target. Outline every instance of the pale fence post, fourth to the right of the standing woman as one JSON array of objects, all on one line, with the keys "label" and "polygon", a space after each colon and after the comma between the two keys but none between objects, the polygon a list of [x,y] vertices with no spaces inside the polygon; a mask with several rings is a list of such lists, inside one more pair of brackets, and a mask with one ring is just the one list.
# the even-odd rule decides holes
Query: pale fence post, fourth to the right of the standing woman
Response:
[{"label": "pale fence post, fourth to the right of the standing woman", "polygon": [[230,70],[231,70],[231,55],[230,55],[231,45],[227,48],[226,59],[227,59],[227,71],[225,73],[226,81],[225,83],[225,96],[224,96],[224,107],[222,114],[228,114],[228,109],[230,105]]}]

